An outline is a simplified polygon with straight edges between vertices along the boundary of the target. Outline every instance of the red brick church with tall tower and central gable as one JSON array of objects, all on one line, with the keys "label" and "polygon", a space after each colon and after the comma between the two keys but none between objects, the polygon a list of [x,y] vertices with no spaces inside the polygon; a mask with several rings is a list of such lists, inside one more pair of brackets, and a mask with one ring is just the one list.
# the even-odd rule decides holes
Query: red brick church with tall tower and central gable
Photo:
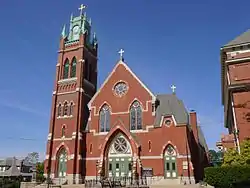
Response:
[{"label": "red brick church with tall tower and central gable", "polygon": [[83,8],[61,34],[45,175],[68,184],[96,176],[200,180],[208,161],[196,112],[174,92],[154,94],[123,50],[97,88],[98,43]]}]

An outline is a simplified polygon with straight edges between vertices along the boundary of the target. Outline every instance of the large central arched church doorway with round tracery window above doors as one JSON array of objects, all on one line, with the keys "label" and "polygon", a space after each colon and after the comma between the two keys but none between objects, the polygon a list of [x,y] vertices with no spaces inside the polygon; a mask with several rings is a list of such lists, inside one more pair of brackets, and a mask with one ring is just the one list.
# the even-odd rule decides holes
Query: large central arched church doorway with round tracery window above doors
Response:
[{"label": "large central arched church doorway with round tracery window above doors", "polygon": [[107,163],[108,177],[132,176],[132,149],[123,134],[118,134],[113,138],[108,148]]}]

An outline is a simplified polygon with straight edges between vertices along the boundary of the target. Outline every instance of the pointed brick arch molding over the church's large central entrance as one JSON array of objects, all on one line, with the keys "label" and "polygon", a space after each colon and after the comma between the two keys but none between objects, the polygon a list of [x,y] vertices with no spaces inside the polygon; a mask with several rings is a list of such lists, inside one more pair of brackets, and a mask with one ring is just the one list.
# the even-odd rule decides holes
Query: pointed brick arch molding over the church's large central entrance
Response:
[{"label": "pointed brick arch molding over the church's large central entrance", "polygon": [[119,133],[123,134],[128,139],[132,148],[133,155],[137,156],[140,144],[131,136],[130,132],[127,129],[125,129],[123,126],[118,125],[110,130],[110,132],[107,134],[104,143],[101,146],[101,158],[104,157],[105,151],[109,147],[109,144],[112,143],[113,138]]}]

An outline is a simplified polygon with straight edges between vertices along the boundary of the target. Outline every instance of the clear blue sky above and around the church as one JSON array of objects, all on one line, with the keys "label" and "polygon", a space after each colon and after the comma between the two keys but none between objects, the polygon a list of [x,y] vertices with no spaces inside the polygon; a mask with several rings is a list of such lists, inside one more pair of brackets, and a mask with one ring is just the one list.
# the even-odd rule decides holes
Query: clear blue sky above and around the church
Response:
[{"label": "clear blue sky above and around the church", "polygon": [[124,48],[127,64],[154,93],[177,86],[214,148],[226,132],[220,47],[250,27],[250,2],[6,0],[0,3],[0,158],[44,156],[59,37],[81,3],[99,39],[99,85]]}]

